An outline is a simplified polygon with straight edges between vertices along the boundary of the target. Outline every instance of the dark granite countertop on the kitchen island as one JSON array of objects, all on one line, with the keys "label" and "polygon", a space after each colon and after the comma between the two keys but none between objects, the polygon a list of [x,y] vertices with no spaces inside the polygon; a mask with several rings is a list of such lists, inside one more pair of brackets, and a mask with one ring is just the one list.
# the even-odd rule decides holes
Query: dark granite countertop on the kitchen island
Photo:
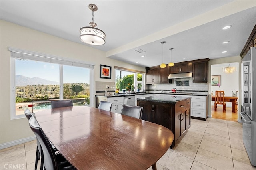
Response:
[{"label": "dark granite countertop on the kitchen island", "polygon": [[140,97],[137,100],[138,101],[151,101],[151,102],[176,104],[178,101],[186,100],[188,98],[191,98],[191,97],[161,95],[161,96]]}]

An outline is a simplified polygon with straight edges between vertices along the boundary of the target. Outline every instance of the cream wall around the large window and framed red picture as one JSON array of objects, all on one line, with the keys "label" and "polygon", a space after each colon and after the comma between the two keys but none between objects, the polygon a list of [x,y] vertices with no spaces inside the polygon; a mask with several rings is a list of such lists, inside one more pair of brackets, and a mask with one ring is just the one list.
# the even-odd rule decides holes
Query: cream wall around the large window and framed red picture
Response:
[{"label": "cream wall around the large window and framed red picture", "polygon": [[[10,120],[10,51],[8,47],[95,63],[94,81],[114,82],[114,66],[145,68],[106,57],[106,52],[1,20],[0,144],[34,136],[26,118]],[[79,36],[79,35],[78,35]],[[112,79],[100,79],[100,64],[112,66]],[[95,89],[95,85],[94,85]],[[94,94],[92,94],[94,96]],[[94,100],[95,101],[95,100]]]}]

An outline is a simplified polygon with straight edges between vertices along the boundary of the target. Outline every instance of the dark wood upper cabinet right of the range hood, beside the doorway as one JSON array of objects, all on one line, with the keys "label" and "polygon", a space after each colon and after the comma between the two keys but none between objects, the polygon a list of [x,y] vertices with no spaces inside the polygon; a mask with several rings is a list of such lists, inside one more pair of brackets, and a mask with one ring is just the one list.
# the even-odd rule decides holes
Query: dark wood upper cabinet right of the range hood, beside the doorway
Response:
[{"label": "dark wood upper cabinet right of the range hood, beside the doorway", "polygon": [[207,58],[193,62],[193,83],[208,83],[208,61]]}]

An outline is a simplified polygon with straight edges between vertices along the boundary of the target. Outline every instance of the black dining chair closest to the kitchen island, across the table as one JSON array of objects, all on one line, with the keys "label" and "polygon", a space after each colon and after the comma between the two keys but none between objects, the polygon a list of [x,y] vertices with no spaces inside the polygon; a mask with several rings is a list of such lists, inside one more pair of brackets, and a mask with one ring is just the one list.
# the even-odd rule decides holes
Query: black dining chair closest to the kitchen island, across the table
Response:
[{"label": "black dining chair closest to the kitchen island, across the table", "polygon": [[121,114],[141,119],[143,107],[123,105]]}]

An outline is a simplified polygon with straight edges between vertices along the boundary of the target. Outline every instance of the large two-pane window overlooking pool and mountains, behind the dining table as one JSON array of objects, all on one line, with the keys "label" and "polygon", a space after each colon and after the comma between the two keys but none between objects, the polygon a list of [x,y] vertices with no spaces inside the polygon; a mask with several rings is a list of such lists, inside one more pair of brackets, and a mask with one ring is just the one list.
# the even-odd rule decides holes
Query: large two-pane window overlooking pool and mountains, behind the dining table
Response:
[{"label": "large two-pane window overlooking pool and mountains, behind the dining table", "polygon": [[[50,109],[51,100],[71,99],[73,105],[93,105],[93,65],[59,57],[11,51],[11,119]],[[93,96],[93,95],[92,95]]]}]

